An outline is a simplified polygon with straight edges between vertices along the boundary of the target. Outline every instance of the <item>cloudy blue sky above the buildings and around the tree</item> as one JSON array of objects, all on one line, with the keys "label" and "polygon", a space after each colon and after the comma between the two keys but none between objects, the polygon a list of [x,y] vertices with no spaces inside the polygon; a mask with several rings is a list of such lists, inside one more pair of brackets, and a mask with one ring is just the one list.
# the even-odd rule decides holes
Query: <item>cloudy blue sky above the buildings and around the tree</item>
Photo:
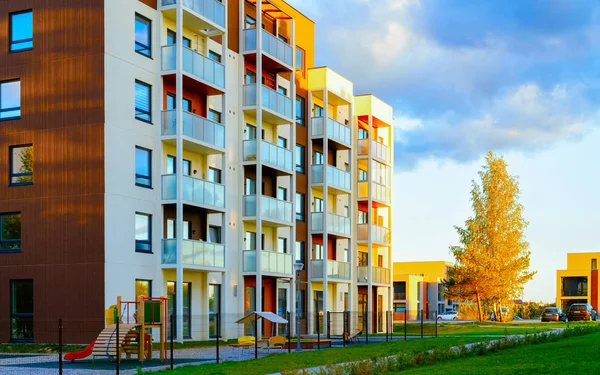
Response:
[{"label": "cloudy blue sky above the buildings and around the tree", "polygon": [[493,150],[523,192],[525,298],[553,301],[566,253],[600,251],[597,1],[288,0],[328,65],[394,107],[394,260],[451,260]]}]

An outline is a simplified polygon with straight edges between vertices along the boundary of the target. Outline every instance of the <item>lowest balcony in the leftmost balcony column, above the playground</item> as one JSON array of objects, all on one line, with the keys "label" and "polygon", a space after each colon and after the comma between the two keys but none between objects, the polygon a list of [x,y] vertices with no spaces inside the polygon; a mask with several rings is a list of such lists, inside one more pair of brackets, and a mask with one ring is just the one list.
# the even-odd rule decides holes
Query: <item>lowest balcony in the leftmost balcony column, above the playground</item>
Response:
[{"label": "lowest balcony in the leftmost balcony column, above the playground", "polygon": [[[225,246],[196,240],[183,240],[184,267],[225,268]],[[162,240],[163,265],[177,265],[177,239]]]}]

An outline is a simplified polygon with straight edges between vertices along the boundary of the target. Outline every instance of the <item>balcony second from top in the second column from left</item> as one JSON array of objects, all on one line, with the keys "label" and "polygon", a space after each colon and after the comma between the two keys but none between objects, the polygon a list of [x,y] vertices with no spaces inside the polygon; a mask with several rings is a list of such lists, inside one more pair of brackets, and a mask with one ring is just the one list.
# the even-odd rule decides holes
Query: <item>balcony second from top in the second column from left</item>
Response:
[{"label": "balcony second from top in the second column from left", "polygon": [[[256,83],[243,86],[244,107],[256,107]],[[260,85],[263,117],[274,125],[289,124],[292,122],[292,99],[267,87]]]}]

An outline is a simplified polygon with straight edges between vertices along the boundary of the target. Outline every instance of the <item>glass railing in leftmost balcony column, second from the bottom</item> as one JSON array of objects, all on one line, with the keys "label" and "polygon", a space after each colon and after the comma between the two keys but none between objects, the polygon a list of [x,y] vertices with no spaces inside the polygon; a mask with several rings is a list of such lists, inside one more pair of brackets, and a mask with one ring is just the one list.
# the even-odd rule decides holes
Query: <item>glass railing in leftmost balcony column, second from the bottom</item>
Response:
[{"label": "glass railing in leftmost balcony column, second from the bottom", "polygon": [[[177,175],[162,176],[162,199],[177,199]],[[225,208],[225,186],[199,178],[183,176],[183,200]]]}]

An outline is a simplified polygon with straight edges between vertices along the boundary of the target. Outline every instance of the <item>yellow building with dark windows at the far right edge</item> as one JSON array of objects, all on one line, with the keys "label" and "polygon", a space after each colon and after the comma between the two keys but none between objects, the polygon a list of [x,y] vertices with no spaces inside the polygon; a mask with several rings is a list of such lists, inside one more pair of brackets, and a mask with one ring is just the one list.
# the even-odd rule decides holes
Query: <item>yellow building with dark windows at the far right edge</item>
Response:
[{"label": "yellow building with dark windows at the far right edge", "polygon": [[556,306],[589,303],[598,311],[599,253],[568,253],[567,269],[556,271]]}]

